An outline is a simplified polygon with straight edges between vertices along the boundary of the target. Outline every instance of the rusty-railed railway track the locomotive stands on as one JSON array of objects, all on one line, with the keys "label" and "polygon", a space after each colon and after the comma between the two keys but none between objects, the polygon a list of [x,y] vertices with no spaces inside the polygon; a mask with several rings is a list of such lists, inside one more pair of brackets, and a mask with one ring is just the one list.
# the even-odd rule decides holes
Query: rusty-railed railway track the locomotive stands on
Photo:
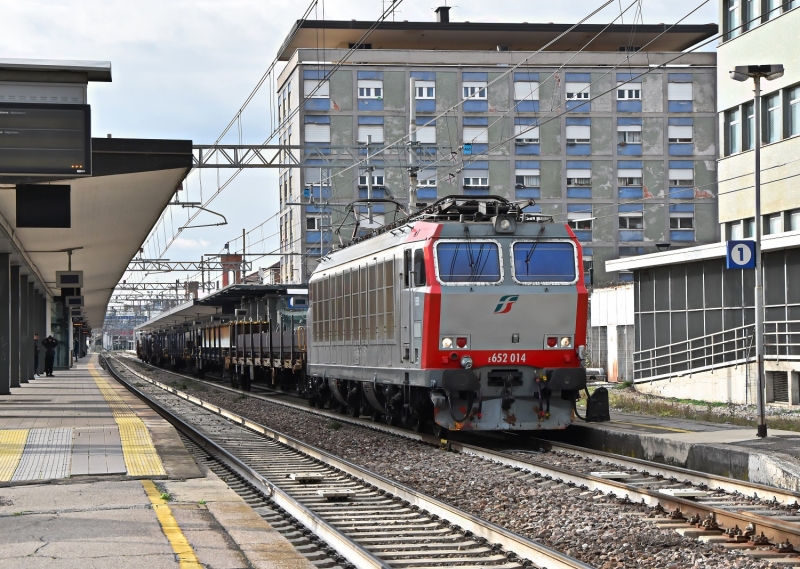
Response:
[{"label": "rusty-railed railway track the locomotive stands on", "polygon": [[[158,371],[184,377],[175,372]],[[264,396],[253,397],[307,413],[336,417],[341,422],[438,444],[433,437],[388,425]],[[659,527],[728,548],[749,549],[749,555],[753,557],[795,566],[793,560],[797,552],[794,546],[800,543],[798,493],[571,445],[537,439],[528,443],[529,447],[542,446],[555,452],[531,452],[529,449],[503,452],[452,440],[447,445],[453,451],[513,468],[521,478],[534,484],[570,492],[579,489],[582,493],[613,495],[623,502],[642,504],[649,508],[643,515],[651,516]],[[498,441],[492,444],[496,445]],[[800,567],[800,558],[796,559],[796,566]]]}]

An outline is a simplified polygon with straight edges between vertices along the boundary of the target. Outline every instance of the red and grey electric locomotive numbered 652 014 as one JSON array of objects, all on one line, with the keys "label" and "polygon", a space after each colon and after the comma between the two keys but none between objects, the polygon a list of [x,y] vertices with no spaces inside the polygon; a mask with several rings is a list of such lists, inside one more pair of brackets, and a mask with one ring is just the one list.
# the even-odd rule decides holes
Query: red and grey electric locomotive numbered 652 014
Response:
[{"label": "red and grey electric locomotive numbered 652 014", "polygon": [[570,425],[586,389],[581,246],[530,203],[450,196],[325,256],[311,403],[440,434]]}]

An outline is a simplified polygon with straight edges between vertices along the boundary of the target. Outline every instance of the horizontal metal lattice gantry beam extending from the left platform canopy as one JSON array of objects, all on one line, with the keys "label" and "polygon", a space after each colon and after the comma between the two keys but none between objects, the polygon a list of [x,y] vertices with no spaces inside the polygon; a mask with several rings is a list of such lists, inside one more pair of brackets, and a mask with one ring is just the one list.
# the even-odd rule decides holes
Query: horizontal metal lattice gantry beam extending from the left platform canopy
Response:
[{"label": "horizontal metal lattice gantry beam extending from the left platform canopy", "polygon": [[[372,157],[380,157],[386,167],[408,166],[406,146],[392,149],[371,149]],[[439,151],[451,154],[452,146],[421,146],[420,160],[435,160]],[[192,146],[194,168],[347,168],[367,155],[365,145],[312,146],[299,144],[196,144]],[[308,161],[314,163],[309,164]],[[322,161],[322,163],[320,163]]]}]

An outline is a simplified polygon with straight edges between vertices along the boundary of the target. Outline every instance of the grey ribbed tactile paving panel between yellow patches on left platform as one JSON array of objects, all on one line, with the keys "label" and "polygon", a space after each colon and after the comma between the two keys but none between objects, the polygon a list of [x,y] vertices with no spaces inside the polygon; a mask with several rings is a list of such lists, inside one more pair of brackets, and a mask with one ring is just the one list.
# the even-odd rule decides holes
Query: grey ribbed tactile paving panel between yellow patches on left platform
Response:
[{"label": "grey ribbed tactile paving panel between yellow patches on left platform", "polygon": [[72,427],[31,429],[12,481],[50,480],[69,476]]}]

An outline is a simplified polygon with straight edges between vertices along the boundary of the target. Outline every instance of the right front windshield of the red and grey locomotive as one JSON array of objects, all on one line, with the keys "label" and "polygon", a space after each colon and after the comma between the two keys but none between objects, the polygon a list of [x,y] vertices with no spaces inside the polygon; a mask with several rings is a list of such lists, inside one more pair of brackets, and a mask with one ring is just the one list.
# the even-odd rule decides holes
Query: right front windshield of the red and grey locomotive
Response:
[{"label": "right front windshield of the red and grey locomotive", "polygon": [[572,284],[577,278],[575,247],[570,242],[515,241],[511,260],[519,283]]}]

